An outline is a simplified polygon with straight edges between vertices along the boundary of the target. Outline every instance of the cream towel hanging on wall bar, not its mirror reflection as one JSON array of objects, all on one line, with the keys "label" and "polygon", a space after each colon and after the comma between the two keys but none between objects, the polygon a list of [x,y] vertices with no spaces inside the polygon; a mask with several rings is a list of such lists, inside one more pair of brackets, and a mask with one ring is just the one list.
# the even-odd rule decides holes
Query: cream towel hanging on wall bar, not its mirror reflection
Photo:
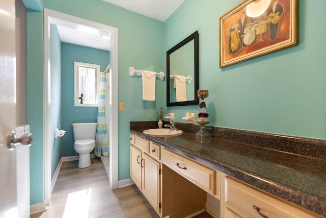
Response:
[{"label": "cream towel hanging on wall bar, not its mirror reflection", "polygon": [[155,101],[156,72],[142,70],[143,100]]}]

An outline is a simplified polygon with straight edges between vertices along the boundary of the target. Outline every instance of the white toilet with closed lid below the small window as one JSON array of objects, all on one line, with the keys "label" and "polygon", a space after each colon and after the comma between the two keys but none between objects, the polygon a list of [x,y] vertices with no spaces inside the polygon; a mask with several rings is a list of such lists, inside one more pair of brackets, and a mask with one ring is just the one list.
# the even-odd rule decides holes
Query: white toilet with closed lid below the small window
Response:
[{"label": "white toilet with closed lid below the small window", "polygon": [[74,123],[73,148],[79,154],[78,167],[86,168],[91,165],[91,152],[95,148],[97,123]]}]

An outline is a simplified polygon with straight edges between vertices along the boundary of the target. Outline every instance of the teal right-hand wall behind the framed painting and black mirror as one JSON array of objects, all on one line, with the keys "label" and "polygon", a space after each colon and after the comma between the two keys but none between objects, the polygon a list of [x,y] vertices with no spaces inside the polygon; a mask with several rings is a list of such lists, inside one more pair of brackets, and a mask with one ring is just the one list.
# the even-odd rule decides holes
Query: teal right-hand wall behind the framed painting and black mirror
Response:
[{"label": "teal right-hand wall behind the framed painting and black mirror", "polygon": [[[199,88],[210,126],[326,139],[326,2],[299,2],[297,46],[219,68],[219,18],[237,1],[186,0],[165,22],[165,50],[199,32]],[[198,106],[169,107],[177,122]]]}]

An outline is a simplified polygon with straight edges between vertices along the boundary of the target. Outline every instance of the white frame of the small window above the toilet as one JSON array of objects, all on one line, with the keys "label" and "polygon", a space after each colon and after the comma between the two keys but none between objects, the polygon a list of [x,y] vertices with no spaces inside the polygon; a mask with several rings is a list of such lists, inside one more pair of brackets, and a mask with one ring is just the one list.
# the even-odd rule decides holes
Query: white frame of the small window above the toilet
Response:
[{"label": "white frame of the small window above the toilet", "polygon": [[[79,103],[79,96],[78,96],[78,67],[89,67],[95,68],[95,80],[96,80],[96,100],[95,104],[80,104]],[[75,107],[98,107],[98,95],[99,95],[99,75],[100,75],[100,65],[98,64],[90,64],[90,63],[83,63],[74,61],[74,105]]]}]

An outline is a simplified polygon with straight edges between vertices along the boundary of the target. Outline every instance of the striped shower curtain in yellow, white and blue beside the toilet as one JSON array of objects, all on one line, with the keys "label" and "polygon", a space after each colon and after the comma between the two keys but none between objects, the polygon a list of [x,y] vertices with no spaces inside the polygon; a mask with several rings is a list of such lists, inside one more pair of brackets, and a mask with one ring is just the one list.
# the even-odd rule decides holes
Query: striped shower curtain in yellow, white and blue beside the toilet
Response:
[{"label": "striped shower curtain in yellow, white and blue beside the toilet", "polygon": [[108,156],[108,96],[107,83],[108,73],[101,72],[99,84],[99,100],[97,107],[97,129],[95,139],[94,155],[100,157]]}]

